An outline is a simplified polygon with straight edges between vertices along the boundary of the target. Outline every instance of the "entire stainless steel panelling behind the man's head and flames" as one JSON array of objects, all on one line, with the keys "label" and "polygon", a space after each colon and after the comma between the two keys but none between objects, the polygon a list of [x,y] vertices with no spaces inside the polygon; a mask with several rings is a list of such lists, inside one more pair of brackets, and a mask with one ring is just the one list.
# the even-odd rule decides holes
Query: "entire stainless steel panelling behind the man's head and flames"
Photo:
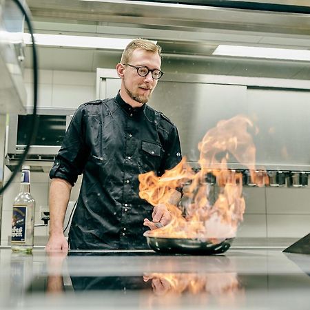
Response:
[{"label": "entire stainless steel panelling behind the man's head and flames", "polygon": [[[256,167],[310,171],[309,83],[286,79],[255,79],[203,74],[167,74],[149,101],[178,127],[183,156],[198,167],[198,143],[218,121],[245,114],[258,128]],[[112,70],[97,71],[97,85],[112,97],[121,81]],[[101,82],[100,82],[101,80]],[[101,83],[106,83],[102,86]],[[238,85],[240,83],[241,85]],[[247,84],[249,87],[247,87]],[[274,85],[274,87],[272,87]],[[281,88],[282,85],[282,88]],[[291,85],[291,89],[287,87]],[[303,89],[298,89],[302,85]],[[255,87],[255,89],[253,88]],[[293,87],[296,87],[295,89]],[[234,159],[231,168],[246,168]]]}]

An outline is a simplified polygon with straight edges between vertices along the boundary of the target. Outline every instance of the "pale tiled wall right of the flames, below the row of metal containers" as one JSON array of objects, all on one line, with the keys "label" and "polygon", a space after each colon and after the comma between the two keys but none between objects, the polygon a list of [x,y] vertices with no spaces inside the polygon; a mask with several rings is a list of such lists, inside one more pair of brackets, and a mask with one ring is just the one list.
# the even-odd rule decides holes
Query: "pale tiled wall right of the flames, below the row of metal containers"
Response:
[{"label": "pale tiled wall right of the flames, below the row of metal containers", "polygon": [[244,187],[242,238],[301,238],[310,232],[310,187]]}]

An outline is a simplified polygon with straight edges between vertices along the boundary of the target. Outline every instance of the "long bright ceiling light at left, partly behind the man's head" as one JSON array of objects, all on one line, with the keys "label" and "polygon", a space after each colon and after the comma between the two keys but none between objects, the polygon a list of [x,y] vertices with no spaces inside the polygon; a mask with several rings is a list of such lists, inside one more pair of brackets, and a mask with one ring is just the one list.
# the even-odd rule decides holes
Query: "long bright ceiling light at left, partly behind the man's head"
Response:
[{"label": "long bright ceiling light at left, partly behind the man's head", "polygon": [[[32,44],[30,34],[23,34],[25,44]],[[34,34],[37,45],[65,46],[71,48],[103,48],[108,50],[124,50],[133,39],[116,39],[103,37],[68,36],[63,34]],[[153,41],[157,43],[156,41]]]}]

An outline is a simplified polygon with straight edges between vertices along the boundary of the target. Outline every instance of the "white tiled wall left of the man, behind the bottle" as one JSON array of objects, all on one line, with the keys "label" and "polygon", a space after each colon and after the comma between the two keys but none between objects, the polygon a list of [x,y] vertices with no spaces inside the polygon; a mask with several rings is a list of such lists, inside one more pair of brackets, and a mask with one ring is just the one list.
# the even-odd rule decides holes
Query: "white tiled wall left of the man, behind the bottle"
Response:
[{"label": "white tiled wall left of the man, behind the bottle", "polygon": [[[33,105],[32,95],[32,71],[25,70],[25,86],[28,92],[27,105]],[[74,71],[39,71],[39,107],[79,107],[86,101],[95,99],[96,94],[96,73],[95,72],[74,72]],[[3,152],[4,143],[1,143],[0,152]],[[10,177],[10,170],[5,167],[4,181]],[[8,244],[8,236],[11,232],[12,204],[15,196],[19,192],[20,178],[17,176],[14,182],[8,187],[3,195],[2,205],[2,225],[1,225],[1,245]],[[81,178],[72,188],[70,200],[76,200],[79,195]],[[41,209],[48,206],[48,192],[50,188],[50,178],[48,173],[31,173],[31,193],[36,200],[35,224],[43,224],[41,220]],[[42,207],[41,207],[42,206]],[[34,236],[37,244],[45,242],[48,235],[48,227],[36,227]],[[41,240],[43,239],[43,240]]]}]

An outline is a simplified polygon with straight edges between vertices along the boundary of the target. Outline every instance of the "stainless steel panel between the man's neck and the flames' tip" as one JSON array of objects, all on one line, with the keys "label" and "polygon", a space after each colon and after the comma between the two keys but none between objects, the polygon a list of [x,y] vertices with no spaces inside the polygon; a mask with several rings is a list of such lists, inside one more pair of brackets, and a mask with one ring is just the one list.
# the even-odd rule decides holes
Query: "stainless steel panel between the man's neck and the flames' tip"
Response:
[{"label": "stainless steel panel between the man's neck and the flames' tip", "polygon": [[162,111],[178,127],[183,155],[198,161],[198,143],[221,119],[245,114],[245,86],[205,83],[158,83],[149,105]]}]

